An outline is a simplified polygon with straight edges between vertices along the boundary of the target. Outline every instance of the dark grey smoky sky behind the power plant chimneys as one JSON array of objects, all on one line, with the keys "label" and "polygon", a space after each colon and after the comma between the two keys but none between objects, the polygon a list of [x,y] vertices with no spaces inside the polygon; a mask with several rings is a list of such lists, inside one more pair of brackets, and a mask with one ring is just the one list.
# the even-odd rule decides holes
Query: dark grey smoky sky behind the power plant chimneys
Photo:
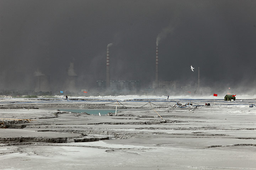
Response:
[{"label": "dark grey smoky sky behind the power plant chimneys", "polygon": [[[256,73],[255,0],[0,0],[0,89],[34,89],[35,72],[61,87],[110,79],[250,89]],[[162,33],[166,31],[165,33]],[[191,72],[190,66],[194,72]],[[224,87],[223,87],[224,88]]]}]

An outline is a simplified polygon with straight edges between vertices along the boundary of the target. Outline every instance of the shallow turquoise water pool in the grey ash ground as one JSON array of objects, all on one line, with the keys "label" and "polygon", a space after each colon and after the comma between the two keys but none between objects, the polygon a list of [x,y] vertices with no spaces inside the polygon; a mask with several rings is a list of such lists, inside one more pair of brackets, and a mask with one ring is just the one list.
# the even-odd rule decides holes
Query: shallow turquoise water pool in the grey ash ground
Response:
[{"label": "shallow turquoise water pool in the grey ash ground", "polygon": [[[107,115],[109,112],[116,113],[116,109],[59,109],[60,111],[74,112],[74,113],[88,113],[91,115]],[[117,110],[118,112],[118,110]]]}]

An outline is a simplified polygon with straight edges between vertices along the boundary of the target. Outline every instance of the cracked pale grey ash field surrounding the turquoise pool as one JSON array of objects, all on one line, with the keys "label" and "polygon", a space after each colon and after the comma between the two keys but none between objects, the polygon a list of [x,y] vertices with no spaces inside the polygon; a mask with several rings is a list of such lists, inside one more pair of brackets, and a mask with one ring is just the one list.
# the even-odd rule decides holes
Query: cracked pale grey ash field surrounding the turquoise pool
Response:
[{"label": "cracked pale grey ash field surrounding the turquoise pool", "polygon": [[1,169],[256,170],[255,99],[69,98],[0,99]]}]

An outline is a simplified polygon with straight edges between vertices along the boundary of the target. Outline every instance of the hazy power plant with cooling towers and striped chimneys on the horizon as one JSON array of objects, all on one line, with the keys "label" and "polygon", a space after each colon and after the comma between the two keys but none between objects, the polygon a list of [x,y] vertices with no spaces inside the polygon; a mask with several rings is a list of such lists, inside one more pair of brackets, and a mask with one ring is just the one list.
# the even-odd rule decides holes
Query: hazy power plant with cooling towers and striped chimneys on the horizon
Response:
[{"label": "hazy power plant with cooling towers and striped chimneys on the horizon", "polygon": [[[139,91],[140,90],[140,80],[111,80],[110,75],[110,47],[113,44],[110,43],[107,45],[107,55],[106,55],[106,81],[105,80],[98,80],[96,81],[97,86],[95,86],[95,89],[101,90],[101,91]],[[40,72],[39,69],[34,73],[36,77],[36,87],[34,89],[35,92],[48,92],[51,91],[51,86],[49,82],[49,77],[42,72]],[[198,67],[198,81],[197,81],[197,88],[196,91],[209,91],[209,87],[200,87],[200,72]],[[151,88],[155,89],[155,91],[161,91],[161,90],[169,90],[169,91],[176,91],[181,86],[179,85],[179,81],[172,80],[172,81],[161,81],[159,80],[159,46],[158,43],[156,45],[156,59],[155,59],[155,81],[152,82]],[[74,71],[74,63],[71,62],[69,65],[69,68],[67,70],[67,75],[65,78],[65,81],[63,82],[63,85],[59,87],[61,91],[66,92],[78,92],[81,89],[78,89],[78,75]],[[184,91],[190,91],[191,85],[184,85],[182,90]],[[85,89],[85,88],[84,88]],[[58,90],[57,90],[58,91]]]}]

